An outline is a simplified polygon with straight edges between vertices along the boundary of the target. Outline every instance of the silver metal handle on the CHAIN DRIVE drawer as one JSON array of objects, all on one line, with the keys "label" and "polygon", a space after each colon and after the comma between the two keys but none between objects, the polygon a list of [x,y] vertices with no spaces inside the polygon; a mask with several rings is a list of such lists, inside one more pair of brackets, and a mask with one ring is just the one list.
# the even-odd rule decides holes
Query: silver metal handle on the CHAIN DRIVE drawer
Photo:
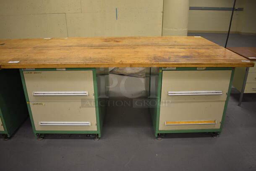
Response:
[{"label": "silver metal handle on the CHAIN DRIVE drawer", "polygon": [[88,96],[88,91],[34,91],[33,96]]}]

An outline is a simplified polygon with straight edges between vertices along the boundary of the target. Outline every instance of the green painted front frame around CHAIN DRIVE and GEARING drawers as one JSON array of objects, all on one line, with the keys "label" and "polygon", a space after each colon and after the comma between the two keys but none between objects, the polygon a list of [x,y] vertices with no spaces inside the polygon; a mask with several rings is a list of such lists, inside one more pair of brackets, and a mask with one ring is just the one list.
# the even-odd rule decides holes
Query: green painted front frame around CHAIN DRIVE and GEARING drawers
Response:
[{"label": "green painted front frame around CHAIN DRIVE and GEARING drawers", "polygon": [[[32,116],[32,112],[31,112],[31,107],[29,104],[29,96],[27,93],[27,89],[26,89],[26,83],[25,83],[25,79],[24,79],[24,74],[23,71],[56,71],[56,68],[39,68],[39,69],[33,69],[33,70],[22,70],[20,69],[20,74],[21,74],[21,81],[22,81],[22,85],[23,85],[23,89],[24,89],[24,93],[25,93],[25,97],[26,97],[26,102],[27,102],[27,106],[28,106],[28,110],[29,110],[29,117],[30,117],[30,121],[31,121],[31,125],[33,128],[33,132],[34,135],[37,136],[38,133],[45,133],[45,134],[98,134],[99,137],[101,137],[101,133],[100,133],[100,124],[99,123],[99,109],[98,109],[98,98],[95,98],[97,96],[97,79],[96,79],[96,69],[95,68],[66,68],[66,70],[92,70],[93,72],[93,81],[94,81],[94,98],[95,98],[95,109],[96,109],[96,119],[97,119],[97,131],[43,131],[43,130],[36,130],[35,126],[34,126],[34,119]],[[95,89],[95,83],[96,83],[96,89]]]}]

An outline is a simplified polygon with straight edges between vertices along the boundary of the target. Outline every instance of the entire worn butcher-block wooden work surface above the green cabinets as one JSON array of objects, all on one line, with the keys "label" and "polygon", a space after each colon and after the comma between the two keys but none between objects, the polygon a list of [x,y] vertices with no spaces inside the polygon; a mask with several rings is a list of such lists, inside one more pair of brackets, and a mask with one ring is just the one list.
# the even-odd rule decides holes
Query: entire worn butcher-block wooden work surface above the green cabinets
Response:
[{"label": "entire worn butcher-block wooden work surface above the green cabinets", "polygon": [[198,36],[0,40],[1,68],[253,66]]}]

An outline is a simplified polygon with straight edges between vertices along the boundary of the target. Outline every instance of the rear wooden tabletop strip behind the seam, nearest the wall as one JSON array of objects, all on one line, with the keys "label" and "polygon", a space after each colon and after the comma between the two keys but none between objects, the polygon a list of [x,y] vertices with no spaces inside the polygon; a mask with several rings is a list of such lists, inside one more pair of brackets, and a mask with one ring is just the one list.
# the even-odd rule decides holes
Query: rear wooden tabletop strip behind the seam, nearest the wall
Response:
[{"label": "rear wooden tabletop strip behind the seam, nearest the wall", "polygon": [[115,46],[218,46],[194,36],[76,37],[52,38],[37,47],[115,47]]}]

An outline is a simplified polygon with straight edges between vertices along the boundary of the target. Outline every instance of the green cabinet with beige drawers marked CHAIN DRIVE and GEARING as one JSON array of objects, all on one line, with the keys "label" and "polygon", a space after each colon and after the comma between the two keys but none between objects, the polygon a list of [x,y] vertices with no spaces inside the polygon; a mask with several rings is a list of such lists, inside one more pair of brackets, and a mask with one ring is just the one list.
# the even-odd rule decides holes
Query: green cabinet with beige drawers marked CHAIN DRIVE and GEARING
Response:
[{"label": "green cabinet with beige drawers marked CHAIN DRIVE and GEARING", "polygon": [[105,106],[100,102],[105,100],[107,89],[98,85],[107,87],[108,83],[108,72],[103,70],[20,70],[32,127],[39,139],[45,133],[88,134],[94,140],[101,137]]}]

